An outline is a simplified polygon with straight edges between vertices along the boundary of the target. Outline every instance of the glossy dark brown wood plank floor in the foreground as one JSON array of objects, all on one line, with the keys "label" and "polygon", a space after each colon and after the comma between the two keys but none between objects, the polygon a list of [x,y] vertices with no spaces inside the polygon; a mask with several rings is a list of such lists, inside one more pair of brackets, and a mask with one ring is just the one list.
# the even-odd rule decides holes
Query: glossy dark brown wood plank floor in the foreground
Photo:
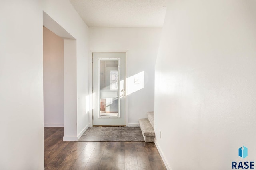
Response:
[{"label": "glossy dark brown wood plank floor in the foreground", "polygon": [[63,127],[44,127],[45,170],[166,170],[154,143],[63,141]]}]

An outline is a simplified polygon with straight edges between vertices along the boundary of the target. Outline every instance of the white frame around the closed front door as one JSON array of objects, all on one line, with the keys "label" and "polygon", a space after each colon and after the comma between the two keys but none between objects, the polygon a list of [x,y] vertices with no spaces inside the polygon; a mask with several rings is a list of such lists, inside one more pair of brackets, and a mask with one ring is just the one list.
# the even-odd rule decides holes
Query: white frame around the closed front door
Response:
[{"label": "white frame around the closed front door", "polygon": [[[89,98],[90,98],[90,111],[89,111],[89,127],[93,126],[93,92],[92,92],[92,86],[93,86],[93,59],[92,59],[92,54],[93,53],[126,53],[126,61],[125,61],[125,65],[126,65],[126,73],[125,73],[125,77],[127,79],[127,57],[128,57],[128,50],[90,50],[89,52],[89,62],[91,64],[89,64]],[[127,82],[126,82],[126,90],[127,90]],[[95,90],[94,90],[95,92]],[[128,126],[128,96],[126,95],[126,125]]]}]

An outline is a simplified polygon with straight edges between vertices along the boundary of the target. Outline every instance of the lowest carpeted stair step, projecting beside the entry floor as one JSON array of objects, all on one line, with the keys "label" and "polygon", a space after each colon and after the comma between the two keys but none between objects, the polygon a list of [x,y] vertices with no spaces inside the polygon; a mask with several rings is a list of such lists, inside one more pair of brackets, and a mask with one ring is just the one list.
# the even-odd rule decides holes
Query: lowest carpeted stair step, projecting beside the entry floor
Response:
[{"label": "lowest carpeted stair step, projecting beside the entry floor", "polygon": [[154,142],[155,131],[148,119],[139,119],[140,129],[145,142]]}]

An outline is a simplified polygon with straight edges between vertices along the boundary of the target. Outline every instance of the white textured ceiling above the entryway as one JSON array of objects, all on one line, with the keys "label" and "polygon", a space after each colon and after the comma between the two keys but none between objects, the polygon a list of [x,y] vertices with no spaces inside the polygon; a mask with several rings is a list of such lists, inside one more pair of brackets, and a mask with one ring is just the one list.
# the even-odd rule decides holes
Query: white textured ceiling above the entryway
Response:
[{"label": "white textured ceiling above the entryway", "polygon": [[166,0],[70,0],[88,27],[162,27]]}]

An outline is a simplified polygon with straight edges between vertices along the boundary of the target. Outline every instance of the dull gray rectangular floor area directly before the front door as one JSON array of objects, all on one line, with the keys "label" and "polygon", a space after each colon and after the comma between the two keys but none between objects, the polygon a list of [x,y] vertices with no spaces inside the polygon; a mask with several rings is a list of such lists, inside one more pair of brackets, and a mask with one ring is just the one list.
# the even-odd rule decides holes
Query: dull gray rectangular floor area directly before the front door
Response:
[{"label": "dull gray rectangular floor area directly before the front door", "polygon": [[89,127],[78,142],[143,142],[140,127]]}]

